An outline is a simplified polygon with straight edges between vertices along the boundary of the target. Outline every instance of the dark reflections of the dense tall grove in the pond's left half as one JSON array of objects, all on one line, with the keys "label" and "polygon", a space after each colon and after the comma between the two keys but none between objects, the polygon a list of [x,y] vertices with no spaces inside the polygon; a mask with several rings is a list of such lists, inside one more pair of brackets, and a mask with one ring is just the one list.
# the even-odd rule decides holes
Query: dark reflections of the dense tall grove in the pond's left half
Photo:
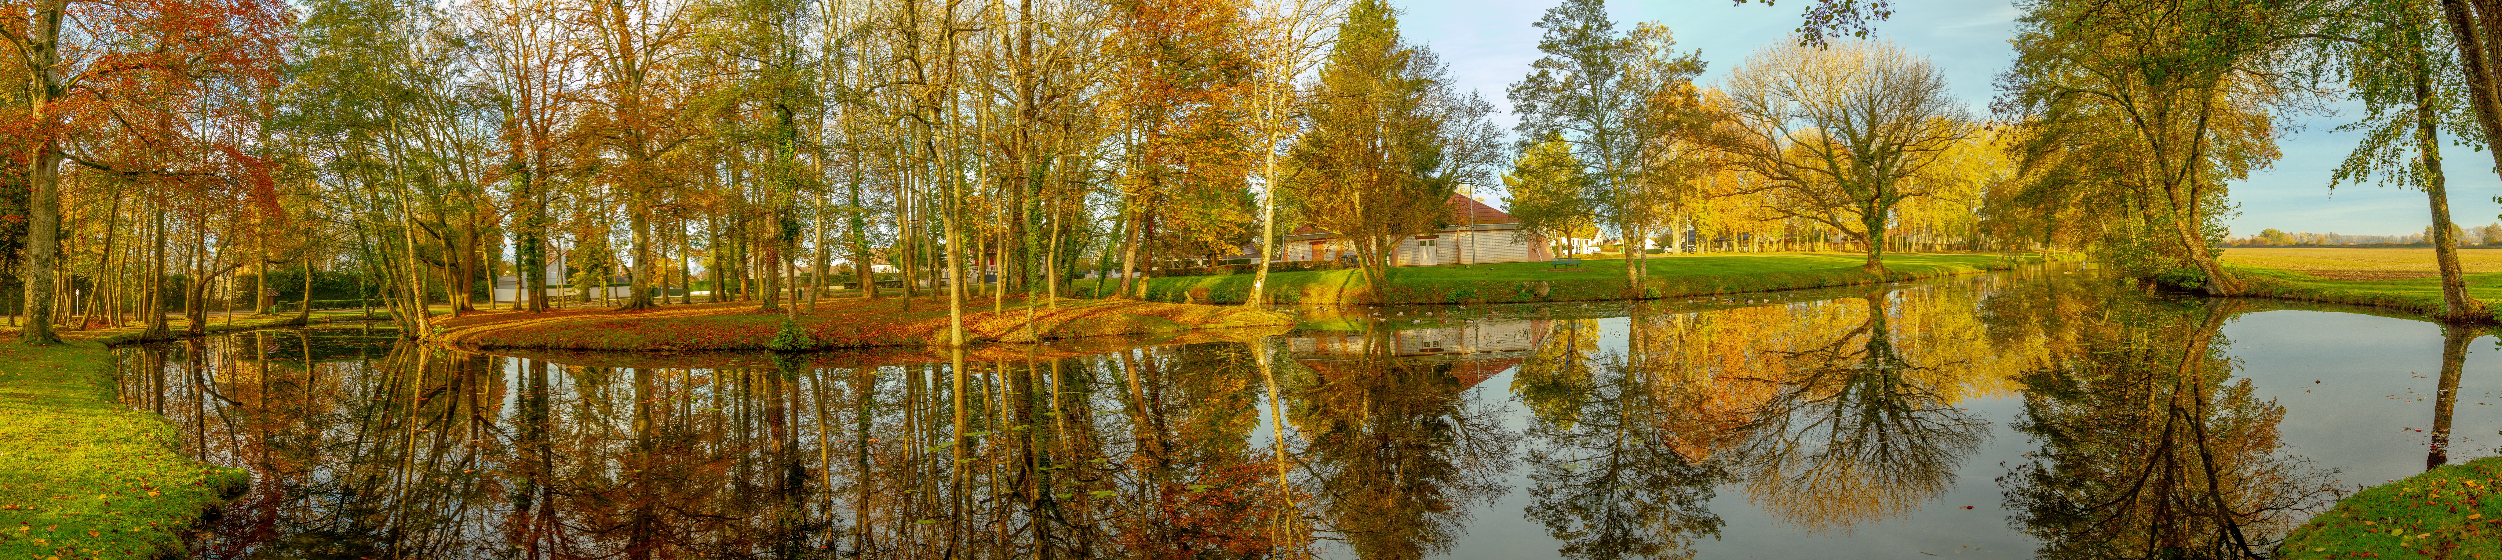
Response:
[{"label": "dark reflections of the dense tall grove in the pond's left half", "polygon": [[928,358],[605,368],[250,332],[133,348],[120,385],[255,472],[205,558],[1449,550],[1516,440],[1466,392],[1486,368],[1339,340],[988,352],[958,385]]}]

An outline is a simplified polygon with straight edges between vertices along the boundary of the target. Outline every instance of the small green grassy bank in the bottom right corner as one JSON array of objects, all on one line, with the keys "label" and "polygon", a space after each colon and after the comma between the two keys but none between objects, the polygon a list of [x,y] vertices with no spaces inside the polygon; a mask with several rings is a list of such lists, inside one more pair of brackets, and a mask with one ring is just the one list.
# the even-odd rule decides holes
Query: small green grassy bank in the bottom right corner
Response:
[{"label": "small green grassy bank in the bottom right corner", "polygon": [[2319,512],[2277,558],[2502,558],[2502,458],[2364,488]]}]

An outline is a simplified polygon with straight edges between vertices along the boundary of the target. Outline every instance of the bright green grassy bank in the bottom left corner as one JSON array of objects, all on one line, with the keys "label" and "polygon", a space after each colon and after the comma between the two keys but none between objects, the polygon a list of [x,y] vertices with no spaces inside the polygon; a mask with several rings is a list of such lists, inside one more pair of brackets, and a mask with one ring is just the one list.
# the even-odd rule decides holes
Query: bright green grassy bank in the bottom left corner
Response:
[{"label": "bright green grassy bank in the bottom left corner", "polygon": [[[180,325],[180,322],[178,322]],[[210,332],[293,318],[210,322]],[[250,482],[183,458],[173,422],[115,402],[108,342],[135,328],[65,330],[68,345],[18,345],[0,328],[0,558],[155,558]]]}]

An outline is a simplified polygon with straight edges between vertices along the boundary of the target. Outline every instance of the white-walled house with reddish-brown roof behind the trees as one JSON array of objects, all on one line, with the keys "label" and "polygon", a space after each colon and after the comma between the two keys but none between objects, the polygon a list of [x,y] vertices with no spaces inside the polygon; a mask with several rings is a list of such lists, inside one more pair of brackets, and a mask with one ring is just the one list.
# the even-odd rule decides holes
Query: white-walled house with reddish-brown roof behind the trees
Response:
[{"label": "white-walled house with reddish-brown roof behind the trees", "polygon": [[[1336,260],[1356,255],[1356,245],[1329,230],[1296,228],[1279,252],[1281,260]],[[1391,250],[1391,265],[1539,262],[1554,258],[1549,252],[1546,235],[1534,230],[1521,235],[1519,218],[1474,198],[1451,195],[1451,225],[1399,240],[1399,248]]]}]

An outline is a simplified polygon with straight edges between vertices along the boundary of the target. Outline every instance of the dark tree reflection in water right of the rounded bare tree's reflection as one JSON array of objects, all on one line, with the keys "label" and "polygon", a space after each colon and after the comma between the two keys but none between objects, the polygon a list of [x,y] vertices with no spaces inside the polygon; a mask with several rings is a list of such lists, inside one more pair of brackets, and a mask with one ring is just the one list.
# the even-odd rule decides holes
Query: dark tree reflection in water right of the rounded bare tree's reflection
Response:
[{"label": "dark tree reflection in water right of the rounded bare tree's reflection", "polygon": [[2024,375],[2042,450],[2002,478],[2042,558],[2264,558],[2332,472],[2279,455],[2284,408],[2217,352],[2234,300],[2104,298]]}]

